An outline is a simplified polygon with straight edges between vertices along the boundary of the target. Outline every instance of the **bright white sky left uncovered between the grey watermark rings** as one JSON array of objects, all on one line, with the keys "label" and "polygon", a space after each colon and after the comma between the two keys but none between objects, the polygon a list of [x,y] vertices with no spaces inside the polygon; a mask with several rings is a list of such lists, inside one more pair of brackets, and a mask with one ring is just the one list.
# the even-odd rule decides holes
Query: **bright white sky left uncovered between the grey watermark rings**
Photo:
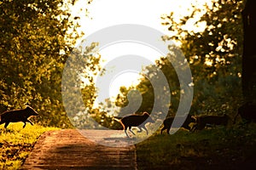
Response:
[{"label": "bright white sky left uncovered between the grey watermark rings", "polygon": [[[174,17],[180,18],[184,14],[192,12],[191,2],[196,3],[197,8],[203,8],[202,4],[210,3],[211,0],[94,0],[90,5],[86,5],[86,0],[78,0],[72,10],[74,16],[80,16],[81,18],[81,30],[84,31],[85,38],[104,27],[119,24],[150,26],[162,31],[164,34],[168,34],[167,27],[161,26],[162,20],[160,16],[162,14],[170,14],[173,11]],[[85,5],[89,10],[90,18],[84,15]],[[193,20],[190,20],[188,29],[195,29],[193,25]],[[199,30],[202,28],[203,26],[197,27]],[[130,51],[125,50],[127,47],[129,47]],[[124,54],[137,54],[152,60],[153,63],[154,59],[160,57],[160,54],[153,49],[129,43],[109,46],[102,49],[100,54],[102,54],[102,59],[106,62]],[[141,65],[140,69],[145,64]],[[118,71],[117,67],[117,65],[109,66],[105,76],[109,77],[112,71]],[[131,82],[137,82],[138,74],[135,71],[130,71],[130,73],[129,71],[124,71],[118,77],[113,77],[110,84],[99,83],[102,86],[98,86],[98,88],[101,90],[101,88],[108,87],[110,89],[109,95],[114,96],[118,94],[120,86],[129,87]]]}]

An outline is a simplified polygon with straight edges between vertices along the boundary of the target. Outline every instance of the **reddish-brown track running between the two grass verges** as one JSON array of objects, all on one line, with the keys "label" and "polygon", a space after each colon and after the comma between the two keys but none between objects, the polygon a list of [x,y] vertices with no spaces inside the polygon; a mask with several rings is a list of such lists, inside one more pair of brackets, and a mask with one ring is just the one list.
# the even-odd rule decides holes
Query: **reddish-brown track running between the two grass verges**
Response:
[{"label": "reddish-brown track running between the two grass verges", "polygon": [[[87,131],[96,137],[105,133],[103,130]],[[136,151],[133,145],[96,144],[73,129],[52,131],[38,139],[22,169],[137,169]]]}]

